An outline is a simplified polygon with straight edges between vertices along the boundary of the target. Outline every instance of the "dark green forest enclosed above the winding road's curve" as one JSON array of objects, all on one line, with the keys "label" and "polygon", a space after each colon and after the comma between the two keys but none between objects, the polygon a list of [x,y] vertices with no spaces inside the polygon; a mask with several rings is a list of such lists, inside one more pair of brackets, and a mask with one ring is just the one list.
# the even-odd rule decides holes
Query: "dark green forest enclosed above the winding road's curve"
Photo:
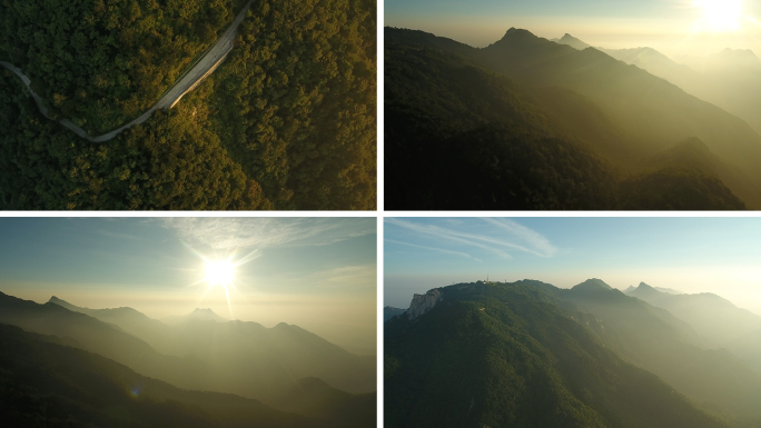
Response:
[{"label": "dark green forest enclosed above the winding road's curve", "polygon": [[4,0],[0,59],[60,117],[98,136],[150,108],[243,4]]}]

